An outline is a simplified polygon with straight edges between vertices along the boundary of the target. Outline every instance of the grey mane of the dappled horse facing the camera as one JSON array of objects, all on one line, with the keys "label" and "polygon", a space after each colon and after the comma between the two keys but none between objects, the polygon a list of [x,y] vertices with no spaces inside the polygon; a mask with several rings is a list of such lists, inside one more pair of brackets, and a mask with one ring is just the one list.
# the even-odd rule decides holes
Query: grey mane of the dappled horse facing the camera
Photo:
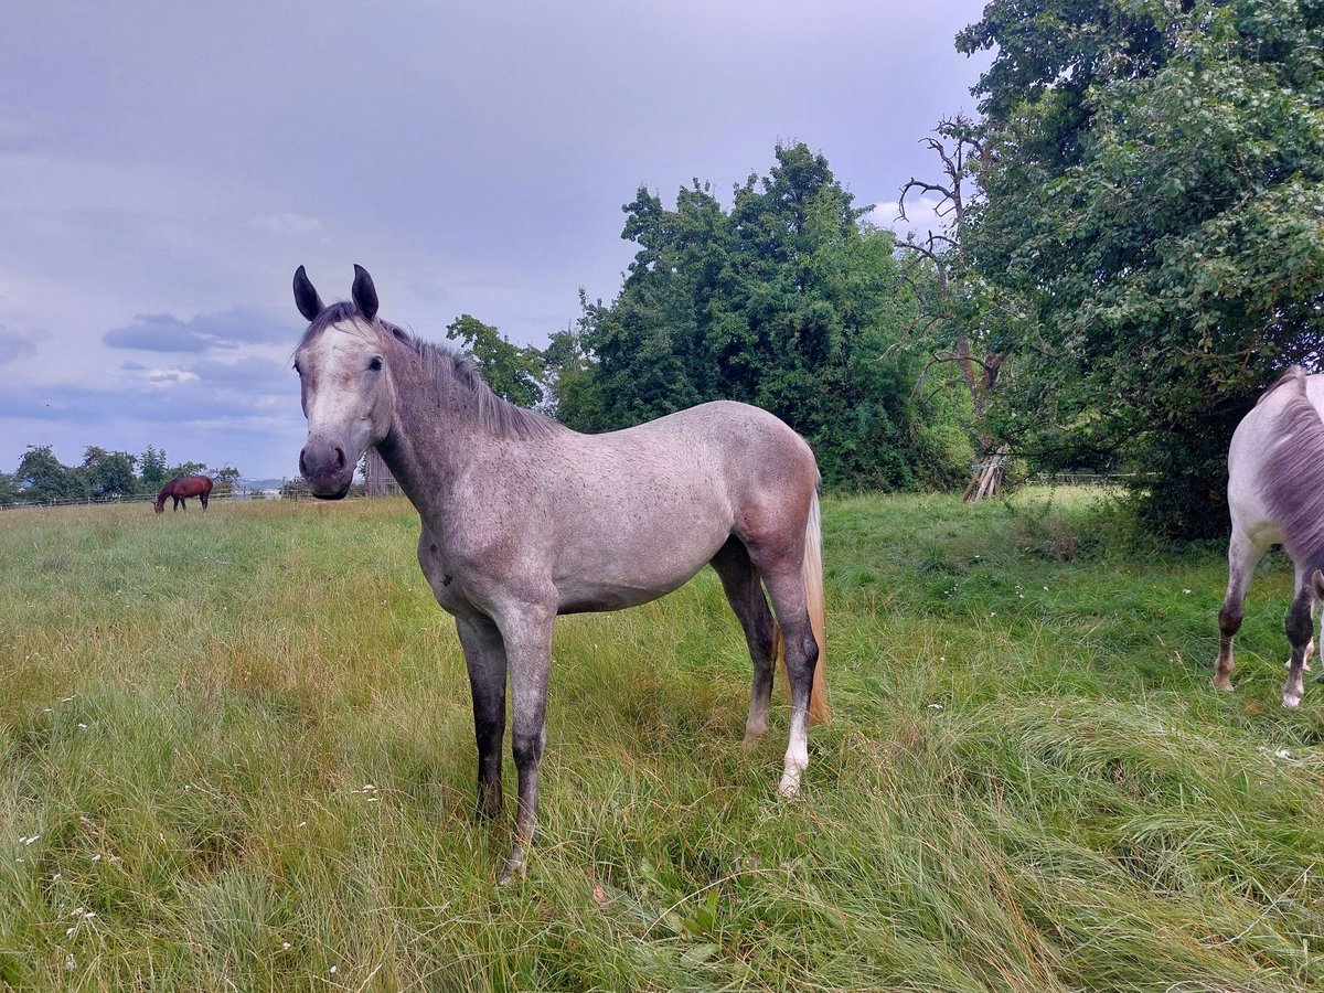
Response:
[{"label": "grey mane of the dappled horse facing the camera", "polygon": [[402,327],[380,318],[368,320],[348,301],[332,303],[318,314],[308,324],[308,330],[303,332],[299,347],[318,338],[326,328],[339,323],[371,330],[379,340],[393,340],[404,346],[418,360],[425,379],[433,383],[457,385],[459,393],[473,401],[479,425],[499,438],[545,438],[560,428],[551,417],[516,406],[504,397],[496,396],[487,385],[487,380],[483,379],[478,363],[473,359],[465,357],[449,346],[425,342]]}]

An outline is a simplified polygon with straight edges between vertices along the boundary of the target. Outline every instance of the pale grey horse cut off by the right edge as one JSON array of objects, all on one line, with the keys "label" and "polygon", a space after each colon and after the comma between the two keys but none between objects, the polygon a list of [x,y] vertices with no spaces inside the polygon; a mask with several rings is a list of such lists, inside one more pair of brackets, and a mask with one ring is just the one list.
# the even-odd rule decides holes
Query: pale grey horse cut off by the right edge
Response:
[{"label": "pale grey horse cut off by the right edge", "polygon": [[1295,710],[1304,692],[1301,670],[1315,654],[1315,604],[1324,600],[1324,375],[1294,367],[1237,425],[1227,451],[1227,506],[1233,536],[1214,686],[1233,688],[1233,638],[1246,587],[1268,547],[1282,544],[1296,567],[1296,593],[1284,618],[1292,651],[1283,686],[1283,706]]}]

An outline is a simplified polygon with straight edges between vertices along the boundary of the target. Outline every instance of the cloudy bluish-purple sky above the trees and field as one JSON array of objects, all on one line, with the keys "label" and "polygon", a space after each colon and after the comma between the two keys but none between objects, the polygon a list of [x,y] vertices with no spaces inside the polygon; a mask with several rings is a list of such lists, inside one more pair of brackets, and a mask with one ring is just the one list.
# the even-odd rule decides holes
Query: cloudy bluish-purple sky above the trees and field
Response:
[{"label": "cloudy bluish-purple sky above the trees and field", "polygon": [[294,270],[542,347],[610,301],[622,204],[730,205],[776,146],[896,222],[988,65],[982,0],[5,0],[0,471],[28,445],[298,474]]}]

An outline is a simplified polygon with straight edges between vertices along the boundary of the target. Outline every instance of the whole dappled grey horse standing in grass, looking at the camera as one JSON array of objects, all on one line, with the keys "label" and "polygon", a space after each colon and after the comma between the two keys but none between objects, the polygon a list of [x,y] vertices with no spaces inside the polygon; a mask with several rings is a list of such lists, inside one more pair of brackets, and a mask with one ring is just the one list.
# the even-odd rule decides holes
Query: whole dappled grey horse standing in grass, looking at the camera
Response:
[{"label": "whole dappled grey horse standing in grass, looking at the camera", "polygon": [[308,420],[299,470],[315,496],[339,499],[375,445],[418,510],[418,561],[455,618],[469,669],[481,817],[502,804],[510,681],[519,812],[500,880],[522,869],[538,825],[556,616],[647,602],[706,564],[753,661],[745,740],[768,730],[779,654],[785,663],[790,733],[780,792],[794,797],[810,715],[828,719],[809,445],[767,410],[735,402],[580,434],[502,400],[449,348],[379,319],[372,279],[355,273],[354,302],[330,307],[303,266],[294,277],[311,322],[294,354]]}]

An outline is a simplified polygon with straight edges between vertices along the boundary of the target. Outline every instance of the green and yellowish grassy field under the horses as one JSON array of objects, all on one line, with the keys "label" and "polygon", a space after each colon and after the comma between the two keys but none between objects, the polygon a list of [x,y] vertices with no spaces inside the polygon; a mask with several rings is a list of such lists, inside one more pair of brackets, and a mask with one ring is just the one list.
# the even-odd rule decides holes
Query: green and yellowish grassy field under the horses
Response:
[{"label": "green and yellowish grassy field under the horses", "polygon": [[704,573],[560,622],[540,842],[498,890],[510,817],[470,822],[406,503],[0,514],[0,985],[1324,986],[1324,687],[1278,704],[1284,559],[1221,695],[1221,548],[1071,493],[829,499],[824,528],[804,797],[780,691],[740,745]]}]

